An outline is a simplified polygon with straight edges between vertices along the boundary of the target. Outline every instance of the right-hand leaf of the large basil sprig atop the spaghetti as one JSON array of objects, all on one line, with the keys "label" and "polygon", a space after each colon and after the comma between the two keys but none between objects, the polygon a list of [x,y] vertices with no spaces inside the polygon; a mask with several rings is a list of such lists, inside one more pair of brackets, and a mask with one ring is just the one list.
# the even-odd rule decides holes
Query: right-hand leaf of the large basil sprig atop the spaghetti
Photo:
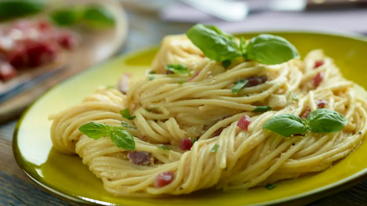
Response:
[{"label": "right-hand leaf of the large basil sprig atop the spaghetti", "polygon": [[299,58],[297,49],[285,38],[271,34],[260,34],[250,40],[247,47],[248,59],[266,65],[276,65]]}]

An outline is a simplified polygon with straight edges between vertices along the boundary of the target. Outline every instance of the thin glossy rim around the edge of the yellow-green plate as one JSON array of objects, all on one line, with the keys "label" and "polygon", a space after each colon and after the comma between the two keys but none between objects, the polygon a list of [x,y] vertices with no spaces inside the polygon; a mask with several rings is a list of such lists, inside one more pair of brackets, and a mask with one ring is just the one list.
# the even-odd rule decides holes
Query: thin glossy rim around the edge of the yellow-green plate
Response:
[{"label": "thin glossy rim around the edge of the yellow-green plate", "polygon": [[[360,33],[354,33],[354,32],[330,32],[330,31],[320,31],[320,30],[282,30],[282,29],[278,29],[278,30],[251,30],[250,32],[241,32],[241,33],[234,33],[234,35],[237,36],[241,36],[241,35],[245,35],[245,34],[255,34],[255,33],[266,33],[266,32],[271,32],[271,33],[294,33],[294,34],[319,34],[319,35],[326,35],[326,36],[334,36],[334,37],[342,37],[342,38],[349,38],[352,40],[357,40],[357,41],[362,41],[362,42],[367,42],[367,37],[363,36],[363,34]],[[62,81],[61,83],[66,83],[69,82],[71,80],[73,80],[74,78],[77,78],[79,76],[83,76],[84,74],[91,72],[93,70],[98,69],[99,67],[103,66],[103,65],[108,65],[110,63],[113,62],[117,62],[117,61],[121,61],[121,60],[125,60],[128,58],[131,58],[135,55],[138,54],[142,54],[144,52],[148,52],[151,51],[153,49],[157,49],[159,48],[159,44],[153,44],[151,46],[147,46],[147,47],[143,47],[140,49],[135,49],[133,51],[130,52],[126,52],[124,54],[121,54],[121,56],[115,56],[114,58],[108,58],[102,62],[97,63],[94,66],[91,66],[89,69],[85,69],[83,71],[81,71],[80,73],[76,74],[73,77],[68,78],[65,81]],[[47,183],[46,181],[43,180],[37,180],[36,178],[34,178],[31,173],[27,170],[27,167],[24,167],[25,163],[23,163],[23,159],[22,159],[22,154],[19,151],[19,147],[18,147],[18,130],[19,127],[22,124],[22,120],[23,118],[28,114],[28,111],[33,107],[34,104],[37,104],[39,102],[39,100],[41,98],[43,98],[44,96],[46,96],[49,92],[53,91],[55,88],[61,86],[62,84],[58,84],[55,87],[52,87],[50,89],[48,89],[45,93],[43,93],[43,95],[39,96],[32,104],[30,104],[26,110],[23,112],[23,114],[21,115],[21,117],[19,118],[15,129],[14,129],[14,134],[13,134],[13,139],[12,139],[12,151],[13,151],[13,155],[15,158],[15,161],[17,162],[18,166],[22,169],[22,171],[34,182],[36,183],[36,185],[39,185],[41,188],[43,188],[46,191],[51,192],[52,195],[55,195],[61,199],[67,200],[67,201],[73,201],[76,203],[82,203],[82,204],[88,204],[88,205],[105,205],[105,206],[123,206],[123,205],[117,205],[115,203],[109,203],[109,202],[103,202],[103,201],[98,201],[98,200],[94,200],[94,199],[90,199],[90,198],[85,198],[85,197],[81,197],[79,195],[76,194],[64,194],[62,191],[59,191],[57,188],[52,188],[52,185]],[[267,202],[262,202],[262,203],[255,203],[255,204],[251,204],[251,205],[246,205],[246,206],[268,206],[268,205],[279,205],[279,204],[284,204],[284,203],[291,203],[292,201],[296,201],[296,200],[302,200],[302,199],[306,199],[310,196],[317,196],[317,198],[314,199],[314,201],[316,201],[317,199],[323,198],[327,195],[331,195],[331,194],[335,194],[336,192],[342,191],[348,187],[351,187],[352,185],[358,184],[361,181],[367,179],[367,167],[360,170],[359,172],[352,174],[344,179],[338,180],[334,183],[331,184],[327,184],[323,187],[319,187],[316,188],[314,190],[310,190],[307,192],[303,192],[301,194],[297,194],[297,195],[292,195],[292,196],[288,196],[286,198],[281,198],[281,199],[277,199],[274,201],[267,201]],[[310,203],[309,201],[306,201],[307,203]],[[245,205],[243,205],[245,206]]]}]

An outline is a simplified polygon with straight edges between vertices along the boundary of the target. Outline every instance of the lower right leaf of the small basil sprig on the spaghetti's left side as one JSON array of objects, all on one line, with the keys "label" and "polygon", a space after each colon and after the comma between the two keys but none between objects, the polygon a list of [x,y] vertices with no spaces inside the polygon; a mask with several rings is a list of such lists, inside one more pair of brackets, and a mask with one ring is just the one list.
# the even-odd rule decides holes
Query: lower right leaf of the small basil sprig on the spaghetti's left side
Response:
[{"label": "lower right leaf of the small basil sprig on the spaghetti's left side", "polygon": [[125,150],[135,150],[134,137],[130,135],[130,133],[128,133],[126,130],[113,128],[110,137],[116,147],[120,147]]}]

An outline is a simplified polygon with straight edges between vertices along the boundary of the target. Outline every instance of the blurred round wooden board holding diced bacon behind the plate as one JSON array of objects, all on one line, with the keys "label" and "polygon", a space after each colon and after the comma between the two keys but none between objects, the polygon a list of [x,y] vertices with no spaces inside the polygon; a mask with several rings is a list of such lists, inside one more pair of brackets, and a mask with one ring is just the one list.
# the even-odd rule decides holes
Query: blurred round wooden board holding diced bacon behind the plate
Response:
[{"label": "blurred round wooden board holding diced bacon behind the plate", "polygon": [[[115,16],[116,26],[113,29],[93,32],[85,29],[77,30],[76,32],[81,35],[81,43],[75,51],[62,57],[67,58],[66,61],[63,61],[66,63],[48,65],[47,68],[44,68],[48,72],[42,75],[30,73],[25,77],[29,81],[15,87],[6,94],[7,96],[1,97],[6,100],[0,103],[0,124],[18,118],[29,104],[48,89],[88,67],[108,59],[122,47],[127,37],[128,21],[121,3],[117,0],[90,0],[88,2],[91,1],[109,8]],[[38,72],[40,73],[41,70]]]}]

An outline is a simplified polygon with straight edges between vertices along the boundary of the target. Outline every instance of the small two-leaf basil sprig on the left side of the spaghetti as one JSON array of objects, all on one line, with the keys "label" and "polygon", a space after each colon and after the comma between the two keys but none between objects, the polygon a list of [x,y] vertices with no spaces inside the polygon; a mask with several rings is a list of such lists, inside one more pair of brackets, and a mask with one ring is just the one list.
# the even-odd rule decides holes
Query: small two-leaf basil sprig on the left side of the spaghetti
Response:
[{"label": "small two-leaf basil sprig on the left side of the spaghetti", "polygon": [[92,139],[109,136],[116,147],[125,150],[135,150],[134,137],[126,130],[98,122],[89,122],[81,125],[79,131]]}]

